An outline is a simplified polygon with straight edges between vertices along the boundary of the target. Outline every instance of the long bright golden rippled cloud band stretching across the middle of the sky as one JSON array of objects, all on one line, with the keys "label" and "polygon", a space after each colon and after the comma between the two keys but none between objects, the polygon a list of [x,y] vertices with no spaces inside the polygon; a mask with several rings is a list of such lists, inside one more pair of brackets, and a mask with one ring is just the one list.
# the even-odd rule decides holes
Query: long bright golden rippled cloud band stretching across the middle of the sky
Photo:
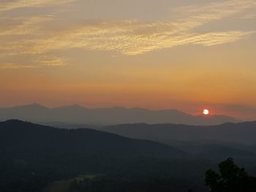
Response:
[{"label": "long bright golden rippled cloud band stretching across the middle of the sky", "polygon": [[[127,23],[130,23],[127,25]],[[154,26],[154,27],[153,27]],[[157,28],[157,31],[154,31]],[[172,28],[172,27],[170,27]],[[146,31],[146,32],[144,32]],[[254,31],[224,31],[206,34],[177,33],[162,23],[138,24],[135,21],[118,22],[108,28],[81,27],[70,31],[60,31],[47,39],[29,39],[23,42],[9,43],[12,54],[42,54],[49,51],[83,48],[87,50],[117,51],[126,55],[138,55],[152,50],[176,47],[178,45],[213,46],[236,42],[248,37]],[[17,47],[23,47],[17,49]]]}]

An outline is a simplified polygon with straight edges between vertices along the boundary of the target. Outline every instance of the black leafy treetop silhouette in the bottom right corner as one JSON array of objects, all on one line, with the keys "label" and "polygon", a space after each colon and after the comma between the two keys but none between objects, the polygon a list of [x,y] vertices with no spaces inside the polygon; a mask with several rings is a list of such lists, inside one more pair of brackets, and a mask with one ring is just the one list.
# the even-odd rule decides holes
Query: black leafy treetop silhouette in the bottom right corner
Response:
[{"label": "black leafy treetop silhouette in the bottom right corner", "polygon": [[219,173],[212,169],[206,172],[206,185],[211,192],[256,191],[256,177],[249,176],[245,169],[236,166],[232,158],[219,164]]}]

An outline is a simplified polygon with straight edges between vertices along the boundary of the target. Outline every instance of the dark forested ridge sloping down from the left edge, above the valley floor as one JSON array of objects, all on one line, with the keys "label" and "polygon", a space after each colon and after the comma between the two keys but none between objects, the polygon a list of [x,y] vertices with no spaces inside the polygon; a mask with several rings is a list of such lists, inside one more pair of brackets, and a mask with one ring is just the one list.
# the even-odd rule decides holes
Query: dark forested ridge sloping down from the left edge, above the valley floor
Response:
[{"label": "dark forested ridge sloping down from the left edge, above the valley floor", "polygon": [[[93,129],[60,129],[8,120],[0,123],[1,158],[42,161],[55,158],[180,158],[181,150],[140,139],[129,139]],[[49,158],[49,159],[48,159]]]}]

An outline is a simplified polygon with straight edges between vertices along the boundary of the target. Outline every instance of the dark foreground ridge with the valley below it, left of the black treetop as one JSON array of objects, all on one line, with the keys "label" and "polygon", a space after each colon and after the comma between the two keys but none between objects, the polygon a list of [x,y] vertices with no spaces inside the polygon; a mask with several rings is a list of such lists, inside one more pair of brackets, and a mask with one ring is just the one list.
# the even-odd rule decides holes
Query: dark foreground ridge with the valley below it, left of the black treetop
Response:
[{"label": "dark foreground ridge with the valley below it, left of the black treetop", "polygon": [[0,154],[1,192],[206,192],[217,164],[159,142],[20,120],[0,123]]}]

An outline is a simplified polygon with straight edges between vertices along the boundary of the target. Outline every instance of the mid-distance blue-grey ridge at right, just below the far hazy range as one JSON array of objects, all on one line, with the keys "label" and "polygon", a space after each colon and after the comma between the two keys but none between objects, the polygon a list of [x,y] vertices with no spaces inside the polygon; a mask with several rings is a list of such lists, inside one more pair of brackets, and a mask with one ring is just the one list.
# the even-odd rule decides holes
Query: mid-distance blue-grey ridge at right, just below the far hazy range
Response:
[{"label": "mid-distance blue-grey ridge at right, just below the far hazy range", "polygon": [[187,126],[146,123],[108,126],[106,131],[125,137],[154,141],[211,141],[256,144],[256,122],[224,123],[219,126]]}]

